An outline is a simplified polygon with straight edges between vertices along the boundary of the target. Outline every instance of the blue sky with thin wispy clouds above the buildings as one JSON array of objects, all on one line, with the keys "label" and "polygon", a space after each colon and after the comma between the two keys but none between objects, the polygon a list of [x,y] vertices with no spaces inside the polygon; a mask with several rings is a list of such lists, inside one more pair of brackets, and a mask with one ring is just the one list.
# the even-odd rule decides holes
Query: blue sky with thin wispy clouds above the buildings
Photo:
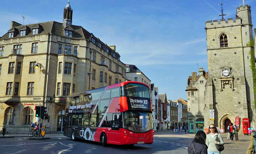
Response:
[{"label": "blue sky with thin wispy clouds above the buildings", "polygon": [[[252,8],[256,24],[256,2]],[[73,24],[108,45],[124,63],[135,64],[168,99],[186,98],[187,77],[198,66],[207,71],[205,21],[220,19],[219,0],[70,0]],[[223,0],[226,18],[235,17],[242,0]],[[16,5],[14,5],[16,4]],[[2,0],[0,36],[10,22],[62,22],[67,0]]]}]

